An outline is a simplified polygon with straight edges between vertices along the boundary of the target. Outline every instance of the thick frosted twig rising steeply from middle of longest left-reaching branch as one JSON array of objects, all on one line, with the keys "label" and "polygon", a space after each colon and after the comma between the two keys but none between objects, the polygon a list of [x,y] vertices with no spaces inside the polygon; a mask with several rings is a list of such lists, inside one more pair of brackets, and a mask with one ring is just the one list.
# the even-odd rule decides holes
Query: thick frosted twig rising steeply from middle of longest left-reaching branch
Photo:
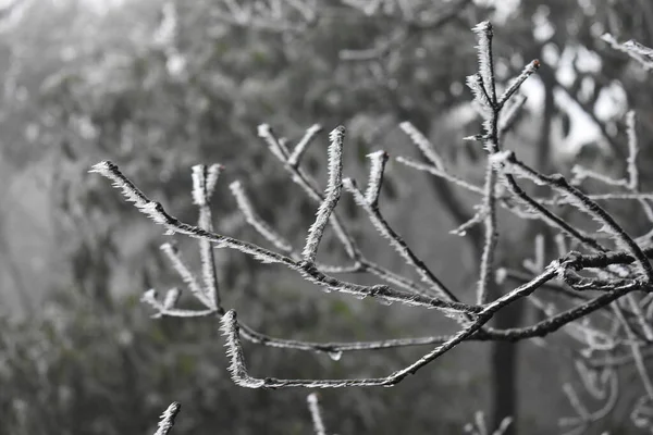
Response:
[{"label": "thick frosted twig rising steeply from middle of longest left-reaching branch", "polygon": [[329,135],[331,144],[329,145],[329,182],[324,191],[324,200],[318,208],[316,221],[308,231],[306,245],[301,252],[304,259],[308,262],[313,262],[318,253],[318,245],[324,234],[324,228],[329,222],[329,217],[337,201],[340,200],[343,189],[343,142],[345,138],[345,127],[342,125],[336,127]]}]

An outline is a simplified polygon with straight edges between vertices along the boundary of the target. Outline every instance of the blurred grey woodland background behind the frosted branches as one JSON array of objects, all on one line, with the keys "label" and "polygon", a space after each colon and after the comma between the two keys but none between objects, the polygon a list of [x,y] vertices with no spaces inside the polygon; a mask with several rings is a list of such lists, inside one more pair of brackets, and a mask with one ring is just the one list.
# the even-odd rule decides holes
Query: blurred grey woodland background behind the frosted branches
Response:
[{"label": "blurred grey woodland background behind the frosted branches", "polygon": [[[460,298],[472,300],[481,233],[460,237],[449,231],[473,215],[478,198],[393,158],[419,158],[398,128],[410,121],[452,172],[483,178],[482,147],[463,140],[480,132],[464,84],[477,67],[470,27],[491,20],[501,82],[531,59],[542,63],[522,89],[528,101],[506,147],[544,172],[569,174],[581,163],[619,176],[627,153],[624,115],[633,109],[642,189],[653,188],[651,74],[600,38],[608,32],[653,46],[649,0],[0,3],[2,434],[152,433],[172,400],[183,407],[175,434],[312,431],[305,390],[233,384],[214,319],[151,319],[139,302],[143,293],[182,284],[159,250],[170,237],[106,179],[88,174],[100,160],[114,161],[185,221],[196,219],[189,167],[221,163],[217,231],[264,244],[229,191],[239,179],[258,212],[301,244],[316,206],[257,137],[257,125],[268,123],[296,142],[310,125],[321,124],[324,132],[305,167],[323,181],[326,133],[344,124],[346,175],[365,179],[366,154],[386,150],[383,212]],[[234,13],[243,8],[251,12],[244,18]],[[431,25],[415,24],[424,16]],[[370,55],[357,51],[368,49]],[[370,257],[412,276],[353,201],[338,207]],[[632,206],[609,210],[634,234],[650,229]],[[501,217],[498,261],[523,270],[543,229]],[[198,268],[196,243],[174,238]],[[333,261],[344,258],[330,239],[320,252]],[[547,254],[555,256],[552,244]],[[454,331],[451,320],[432,311],[324,294],[241,253],[218,250],[217,261],[225,306],[270,335],[357,340]],[[539,315],[518,307],[497,324]],[[334,361],[245,345],[251,372],[278,377],[386,375],[424,350],[350,353]],[[621,375],[629,385],[632,373]],[[546,346],[477,343],[393,388],[328,390],[320,397],[329,431],[341,434],[463,433],[475,412],[492,420],[497,409],[517,417],[520,433],[551,434],[559,431],[557,419],[570,413],[562,385],[576,376],[572,363]],[[641,391],[632,385],[592,427],[595,433],[636,433],[628,410]]]}]

